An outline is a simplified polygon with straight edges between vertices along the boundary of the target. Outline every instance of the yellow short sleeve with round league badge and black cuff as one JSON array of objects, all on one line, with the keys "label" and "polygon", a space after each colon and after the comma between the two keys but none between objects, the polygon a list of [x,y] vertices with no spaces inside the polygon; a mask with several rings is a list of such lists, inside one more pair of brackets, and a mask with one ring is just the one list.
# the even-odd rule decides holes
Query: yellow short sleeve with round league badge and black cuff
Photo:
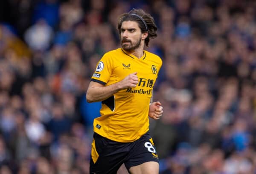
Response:
[{"label": "yellow short sleeve with round league badge and black cuff", "polygon": [[93,73],[91,81],[98,82],[105,85],[112,73],[112,60],[111,55],[106,53],[97,63],[96,70]]}]

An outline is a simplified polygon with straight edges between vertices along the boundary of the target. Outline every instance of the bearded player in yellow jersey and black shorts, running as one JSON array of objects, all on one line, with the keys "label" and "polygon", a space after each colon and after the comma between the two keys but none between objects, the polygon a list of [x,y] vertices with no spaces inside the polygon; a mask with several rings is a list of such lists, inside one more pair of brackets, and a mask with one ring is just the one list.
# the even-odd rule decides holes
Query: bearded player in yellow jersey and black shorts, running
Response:
[{"label": "bearded player in yellow jersey and black shorts, running", "polygon": [[162,60],[143,50],[157,27],[150,14],[133,9],[120,15],[117,28],[122,48],[105,53],[87,90],[88,102],[102,101],[93,122],[90,174],[116,174],[122,163],[131,174],[158,174],[148,117],[163,113],[160,102],[151,102]]}]

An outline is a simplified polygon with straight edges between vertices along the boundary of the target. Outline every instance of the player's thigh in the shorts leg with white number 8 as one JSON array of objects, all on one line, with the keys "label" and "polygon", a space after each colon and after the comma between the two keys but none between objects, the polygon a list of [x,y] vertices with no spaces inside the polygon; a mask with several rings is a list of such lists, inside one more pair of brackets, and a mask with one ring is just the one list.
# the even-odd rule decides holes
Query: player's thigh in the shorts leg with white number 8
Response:
[{"label": "player's thigh in the shorts leg with white number 8", "polygon": [[[131,149],[128,159],[125,161],[125,167],[130,170],[134,166],[145,167],[147,164],[152,164],[154,168],[159,170],[159,160],[153,139],[146,133],[136,142]],[[144,164],[145,165],[142,165]],[[153,174],[153,173],[152,173]]]}]

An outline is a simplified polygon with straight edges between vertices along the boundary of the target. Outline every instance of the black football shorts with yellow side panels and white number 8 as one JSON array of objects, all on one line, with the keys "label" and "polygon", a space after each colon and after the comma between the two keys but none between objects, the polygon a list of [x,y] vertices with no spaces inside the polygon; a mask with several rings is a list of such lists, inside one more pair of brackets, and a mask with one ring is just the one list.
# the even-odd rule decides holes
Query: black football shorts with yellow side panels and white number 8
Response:
[{"label": "black football shorts with yellow side panels and white number 8", "polygon": [[116,174],[122,163],[127,170],[144,162],[159,163],[156,148],[149,133],[134,142],[115,142],[93,134],[90,174]]}]

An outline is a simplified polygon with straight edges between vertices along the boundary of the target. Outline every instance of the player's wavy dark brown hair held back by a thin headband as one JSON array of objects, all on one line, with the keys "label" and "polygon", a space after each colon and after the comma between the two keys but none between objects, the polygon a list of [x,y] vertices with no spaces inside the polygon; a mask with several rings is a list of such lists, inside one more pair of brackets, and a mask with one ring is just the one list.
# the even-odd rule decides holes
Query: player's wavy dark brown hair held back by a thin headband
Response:
[{"label": "player's wavy dark brown hair held back by a thin headband", "polygon": [[[146,26],[140,17],[132,14],[137,14],[138,16],[142,17],[142,19],[145,21]],[[148,37],[145,39],[146,46],[148,46],[149,40],[151,38],[157,37],[157,26],[154,22],[154,18],[150,14],[144,12],[142,9],[133,9],[130,12],[121,14],[119,16],[118,23],[117,23],[117,29],[119,30],[119,35],[121,34],[120,29],[123,21],[136,21],[141,29],[141,32],[143,33],[148,32]]]}]

